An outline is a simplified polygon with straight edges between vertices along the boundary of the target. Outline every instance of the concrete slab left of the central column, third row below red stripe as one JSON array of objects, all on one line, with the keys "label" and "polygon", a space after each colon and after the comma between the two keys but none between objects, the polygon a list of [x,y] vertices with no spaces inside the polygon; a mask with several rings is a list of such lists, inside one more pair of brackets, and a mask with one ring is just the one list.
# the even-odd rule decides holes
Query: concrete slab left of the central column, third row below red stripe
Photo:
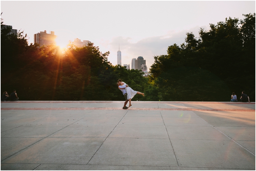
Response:
[{"label": "concrete slab left of the central column, third row below red stripe", "polygon": [[107,137],[116,125],[71,124],[49,137]]}]

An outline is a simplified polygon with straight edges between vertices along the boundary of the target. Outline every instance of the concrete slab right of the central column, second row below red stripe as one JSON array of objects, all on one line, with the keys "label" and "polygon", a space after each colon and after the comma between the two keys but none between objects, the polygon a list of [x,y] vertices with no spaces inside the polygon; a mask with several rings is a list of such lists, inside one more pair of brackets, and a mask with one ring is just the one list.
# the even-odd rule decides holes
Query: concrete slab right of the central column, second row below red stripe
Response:
[{"label": "concrete slab right of the central column, second row below red stripe", "polygon": [[207,122],[201,118],[194,117],[163,117],[165,126],[201,126],[201,127],[210,127]]}]

